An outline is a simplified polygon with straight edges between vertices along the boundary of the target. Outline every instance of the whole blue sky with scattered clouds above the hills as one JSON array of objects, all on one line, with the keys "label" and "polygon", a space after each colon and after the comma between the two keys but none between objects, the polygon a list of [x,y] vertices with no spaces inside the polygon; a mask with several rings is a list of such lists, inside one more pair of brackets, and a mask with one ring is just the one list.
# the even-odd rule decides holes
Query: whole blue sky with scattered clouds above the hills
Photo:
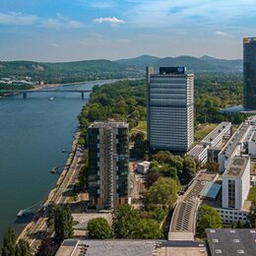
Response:
[{"label": "whole blue sky with scattered clouds above the hills", "polygon": [[256,0],[0,0],[0,60],[242,58]]}]

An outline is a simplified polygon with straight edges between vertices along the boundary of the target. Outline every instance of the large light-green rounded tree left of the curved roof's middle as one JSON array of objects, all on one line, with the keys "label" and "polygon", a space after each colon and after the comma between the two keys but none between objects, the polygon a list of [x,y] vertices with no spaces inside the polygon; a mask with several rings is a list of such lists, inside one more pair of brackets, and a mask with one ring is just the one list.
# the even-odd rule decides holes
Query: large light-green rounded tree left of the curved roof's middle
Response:
[{"label": "large light-green rounded tree left of the curved roof's middle", "polygon": [[179,185],[172,178],[160,177],[145,193],[146,207],[160,205],[172,208],[177,199]]}]

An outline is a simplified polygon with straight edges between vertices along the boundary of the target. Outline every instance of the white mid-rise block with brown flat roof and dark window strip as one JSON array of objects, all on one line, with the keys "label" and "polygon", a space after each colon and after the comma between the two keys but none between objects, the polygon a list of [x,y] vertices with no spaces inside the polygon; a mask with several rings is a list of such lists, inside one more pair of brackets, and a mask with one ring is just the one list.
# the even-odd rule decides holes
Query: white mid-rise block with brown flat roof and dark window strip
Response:
[{"label": "white mid-rise block with brown flat roof and dark window strip", "polygon": [[250,189],[250,159],[230,160],[223,176],[223,208],[242,209]]}]

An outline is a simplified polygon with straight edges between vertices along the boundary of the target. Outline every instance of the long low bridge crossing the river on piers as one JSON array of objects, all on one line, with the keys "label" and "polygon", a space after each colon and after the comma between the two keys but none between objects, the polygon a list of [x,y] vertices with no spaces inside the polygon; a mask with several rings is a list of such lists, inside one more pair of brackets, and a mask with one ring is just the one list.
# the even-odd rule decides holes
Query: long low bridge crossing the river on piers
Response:
[{"label": "long low bridge crossing the river on piers", "polygon": [[23,98],[27,98],[28,94],[32,93],[77,93],[81,94],[81,98],[85,98],[85,94],[87,93],[92,93],[93,90],[62,90],[62,89],[54,89],[54,90],[49,90],[49,89],[44,89],[44,90],[0,90],[0,94],[22,94]]}]

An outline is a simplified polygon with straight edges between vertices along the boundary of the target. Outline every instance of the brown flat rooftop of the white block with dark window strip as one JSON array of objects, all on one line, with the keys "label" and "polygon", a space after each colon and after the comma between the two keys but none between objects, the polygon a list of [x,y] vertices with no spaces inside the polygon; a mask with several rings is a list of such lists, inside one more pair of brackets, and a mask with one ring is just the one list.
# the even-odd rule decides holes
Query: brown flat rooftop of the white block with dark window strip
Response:
[{"label": "brown flat rooftop of the white block with dark window strip", "polygon": [[248,158],[235,157],[228,163],[224,177],[240,177],[242,176],[244,169],[248,163]]}]

